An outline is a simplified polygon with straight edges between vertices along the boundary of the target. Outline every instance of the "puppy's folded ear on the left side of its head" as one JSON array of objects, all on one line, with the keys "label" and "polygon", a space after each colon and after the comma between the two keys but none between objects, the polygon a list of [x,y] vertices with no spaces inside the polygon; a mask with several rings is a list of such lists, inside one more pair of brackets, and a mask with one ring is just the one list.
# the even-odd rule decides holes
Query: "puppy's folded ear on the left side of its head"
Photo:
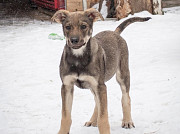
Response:
[{"label": "puppy's folded ear on the left side of its head", "polygon": [[51,19],[53,21],[56,21],[57,23],[62,23],[67,18],[68,15],[69,15],[69,11],[59,10],[53,15]]}]

